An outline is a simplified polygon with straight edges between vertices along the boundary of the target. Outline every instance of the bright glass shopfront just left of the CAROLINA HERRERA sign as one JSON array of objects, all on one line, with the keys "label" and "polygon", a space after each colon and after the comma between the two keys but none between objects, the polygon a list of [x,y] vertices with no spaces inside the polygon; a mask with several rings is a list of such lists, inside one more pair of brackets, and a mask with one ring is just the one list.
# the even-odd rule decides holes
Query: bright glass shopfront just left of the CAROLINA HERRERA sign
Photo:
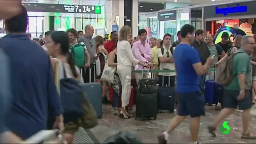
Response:
[{"label": "bright glass shopfront just left of the CAROLINA HERRERA sign", "polygon": [[158,20],[157,13],[140,14],[138,30],[145,29],[148,31],[148,37],[158,38]]}]

